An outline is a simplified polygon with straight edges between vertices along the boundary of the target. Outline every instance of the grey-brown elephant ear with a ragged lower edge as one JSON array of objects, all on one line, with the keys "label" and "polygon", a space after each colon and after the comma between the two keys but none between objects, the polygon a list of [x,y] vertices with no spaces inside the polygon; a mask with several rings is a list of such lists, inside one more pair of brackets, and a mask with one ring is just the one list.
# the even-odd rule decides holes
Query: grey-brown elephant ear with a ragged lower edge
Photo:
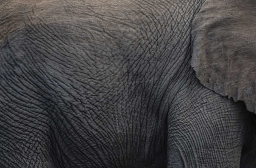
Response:
[{"label": "grey-brown elephant ear with a ragged lower edge", "polygon": [[192,29],[197,78],[256,113],[256,1],[206,0]]}]

